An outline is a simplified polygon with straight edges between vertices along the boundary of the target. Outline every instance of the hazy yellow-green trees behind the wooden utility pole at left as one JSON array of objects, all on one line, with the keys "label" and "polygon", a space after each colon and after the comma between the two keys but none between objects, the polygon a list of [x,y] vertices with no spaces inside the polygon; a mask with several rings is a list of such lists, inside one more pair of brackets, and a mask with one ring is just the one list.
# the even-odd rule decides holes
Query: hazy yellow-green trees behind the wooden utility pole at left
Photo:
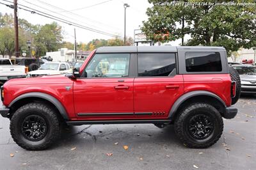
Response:
[{"label": "hazy yellow-green trees behind the wooden utility pole at left", "polygon": [[[0,13],[0,52],[14,52],[13,15]],[[25,19],[19,19],[19,49],[28,50],[26,42],[31,40],[31,49],[35,49],[37,56],[44,56],[45,52],[58,50],[62,42],[62,30],[56,22],[51,24],[33,25]]]}]

